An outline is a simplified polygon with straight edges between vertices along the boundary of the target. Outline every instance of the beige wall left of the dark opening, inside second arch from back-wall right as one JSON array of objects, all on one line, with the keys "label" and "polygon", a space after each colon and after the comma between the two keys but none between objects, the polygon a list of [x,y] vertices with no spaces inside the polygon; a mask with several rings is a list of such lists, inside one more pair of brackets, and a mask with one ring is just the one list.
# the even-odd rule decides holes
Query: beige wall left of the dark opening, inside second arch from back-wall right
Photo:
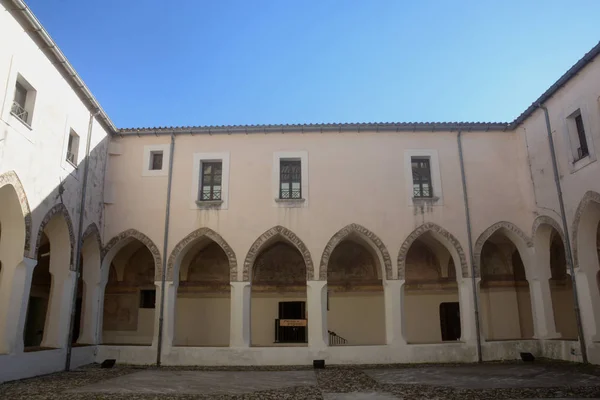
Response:
[{"label": "beige wall left of the dark opening, inside second arch from back-wall right", "polygon": [[440,304],[458,302],[458,291],[410,290],[404,295],[404,334],[408,343],[442,341]]}]

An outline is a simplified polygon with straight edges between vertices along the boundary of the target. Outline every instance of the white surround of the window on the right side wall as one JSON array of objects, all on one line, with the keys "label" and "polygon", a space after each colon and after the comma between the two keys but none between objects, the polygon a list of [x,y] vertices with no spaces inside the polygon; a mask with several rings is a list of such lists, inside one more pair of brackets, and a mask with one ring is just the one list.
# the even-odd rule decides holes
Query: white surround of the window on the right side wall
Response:
[{"label": "white surround of the window on the right side wall", "polygon": [[[567,158],[569,160],[569,171],[570,173],[575,173],[581,168],[585,167],[596,161],[596,152],[594,150],[594,142],[592,140],[592,124],[590,121],[590,113],[585,105],[571,106],[568,110],[570,112],[563,119],[564,121],[564,139],[565,139],[565,147],[567,150]],[[577,148],[579,147],[579,135],[577,133],[577,125],[575,124],[575,117],[581,115],[581,120],[583,122],[583,128],[585,130],[585,139],[588,147],[588,155],[576,160],[575,155]]]}]

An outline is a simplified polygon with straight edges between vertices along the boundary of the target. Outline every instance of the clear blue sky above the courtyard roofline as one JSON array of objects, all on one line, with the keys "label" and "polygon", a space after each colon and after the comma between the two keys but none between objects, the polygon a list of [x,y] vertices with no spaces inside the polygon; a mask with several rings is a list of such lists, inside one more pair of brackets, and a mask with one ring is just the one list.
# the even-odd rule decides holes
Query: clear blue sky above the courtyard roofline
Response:
[{"label": "clear blue sky above the courtyard roofline", "polygon": [[118,127],[509,121],[599,0],[29,0]]}]

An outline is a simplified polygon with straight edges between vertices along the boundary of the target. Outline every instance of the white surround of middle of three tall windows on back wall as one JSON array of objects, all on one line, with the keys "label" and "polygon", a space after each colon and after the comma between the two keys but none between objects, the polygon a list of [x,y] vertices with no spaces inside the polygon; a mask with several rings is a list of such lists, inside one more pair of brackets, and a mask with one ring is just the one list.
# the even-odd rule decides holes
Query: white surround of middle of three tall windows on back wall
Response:
[{"label": "white surround of middle of three tall windows on back wall", "polygon": [[[279,173],[281,160],[299,160],[300,161],[300,190],[301,199],[280,199],[279,198]],[[271,176],[271,186],[273,194],[273,207],[308,207],[308,151],[277,151],[273,153],[273,168]]]}]

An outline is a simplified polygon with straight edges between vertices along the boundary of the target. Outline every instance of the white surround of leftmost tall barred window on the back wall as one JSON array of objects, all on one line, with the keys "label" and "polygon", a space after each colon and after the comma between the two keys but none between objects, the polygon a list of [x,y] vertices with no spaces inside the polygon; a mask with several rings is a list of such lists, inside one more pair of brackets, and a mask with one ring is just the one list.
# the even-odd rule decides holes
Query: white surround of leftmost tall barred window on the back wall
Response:
[{"label": "white surround of leftmost tall barred window on the back wall", "polygon": [[[199,201],[200,180],[202,179],[203,162],[221,162],[221,200]],[[192,157],[192,184],[190,192],[190,209],[217,209],[227,210],[229,208],[229,153],[194,153]]]}]

